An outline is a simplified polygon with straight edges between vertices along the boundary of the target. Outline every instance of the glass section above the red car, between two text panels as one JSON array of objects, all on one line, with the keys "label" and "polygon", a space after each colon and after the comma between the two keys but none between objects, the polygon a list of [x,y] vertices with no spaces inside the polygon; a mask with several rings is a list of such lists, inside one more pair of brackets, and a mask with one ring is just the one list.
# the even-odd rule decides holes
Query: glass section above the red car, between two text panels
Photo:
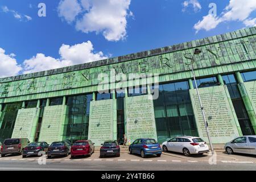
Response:
[{"label": "glass section above the red car, between two text panels", "polygon": [[68,114],[64,127],[64,139],[88,139],[89,112],[92,94],[67,98]]}]

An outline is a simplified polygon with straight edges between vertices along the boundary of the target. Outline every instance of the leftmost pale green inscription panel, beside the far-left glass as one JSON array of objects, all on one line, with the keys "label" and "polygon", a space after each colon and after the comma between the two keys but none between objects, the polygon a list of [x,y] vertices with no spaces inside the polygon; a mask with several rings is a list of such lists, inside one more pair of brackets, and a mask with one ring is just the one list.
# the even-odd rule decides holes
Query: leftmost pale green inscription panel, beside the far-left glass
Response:
[{"label": "leftmost pale green inscription panel, beside the far-left glass", "polygon": [[28,138],[33,141],[34,136],[31,136],[31,131],[32,127],[36,127],[37,113],[38,108],[19,109],[11,138]]}]

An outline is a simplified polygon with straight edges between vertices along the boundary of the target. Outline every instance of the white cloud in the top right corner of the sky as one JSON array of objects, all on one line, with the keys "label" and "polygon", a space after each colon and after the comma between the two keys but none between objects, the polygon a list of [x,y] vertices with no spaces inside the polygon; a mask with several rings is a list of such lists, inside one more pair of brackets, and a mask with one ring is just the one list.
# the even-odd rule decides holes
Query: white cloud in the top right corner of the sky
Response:
[{"label": "white cloud in the top right corner of the sky", "polygon": [[244,24],[250,24],[250,14],[256,10],[256,1],[251,0],[230,0],[229,5],[225,7],[220,16],[203,16],[194,26],[196,32],[200,30],[212,30],[218,24],[229,21],[240,21]]}]

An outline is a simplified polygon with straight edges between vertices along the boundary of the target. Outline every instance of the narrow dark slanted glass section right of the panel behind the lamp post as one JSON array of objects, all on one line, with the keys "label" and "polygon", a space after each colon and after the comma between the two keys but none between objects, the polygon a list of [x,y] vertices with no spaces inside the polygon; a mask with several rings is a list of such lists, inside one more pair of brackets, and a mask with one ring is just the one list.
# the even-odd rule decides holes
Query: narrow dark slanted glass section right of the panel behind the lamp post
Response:
[{"label": "narrow dark slanted glass section right of the panel behind the lamp post", "polygon": [[251,126],[245,105],[241,94],[238,90],[237,81],[234,75],[222,76],[224,84],[228,87],[230,98],[232,100],[234,110],[236,111],[237,119],[240,124],[243,135],[254,135],[253,127]]}]

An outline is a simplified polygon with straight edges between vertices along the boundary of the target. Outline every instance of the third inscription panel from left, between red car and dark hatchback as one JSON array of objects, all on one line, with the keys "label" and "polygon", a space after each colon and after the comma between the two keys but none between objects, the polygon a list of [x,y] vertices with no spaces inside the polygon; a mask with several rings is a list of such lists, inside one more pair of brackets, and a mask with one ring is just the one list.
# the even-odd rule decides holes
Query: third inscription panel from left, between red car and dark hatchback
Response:
[{"label": "third inscription panel from left, between red car and dark hatchback", "polygon": [[113,139],[113,100],[90,102],[88,139],[96,146]]}]

